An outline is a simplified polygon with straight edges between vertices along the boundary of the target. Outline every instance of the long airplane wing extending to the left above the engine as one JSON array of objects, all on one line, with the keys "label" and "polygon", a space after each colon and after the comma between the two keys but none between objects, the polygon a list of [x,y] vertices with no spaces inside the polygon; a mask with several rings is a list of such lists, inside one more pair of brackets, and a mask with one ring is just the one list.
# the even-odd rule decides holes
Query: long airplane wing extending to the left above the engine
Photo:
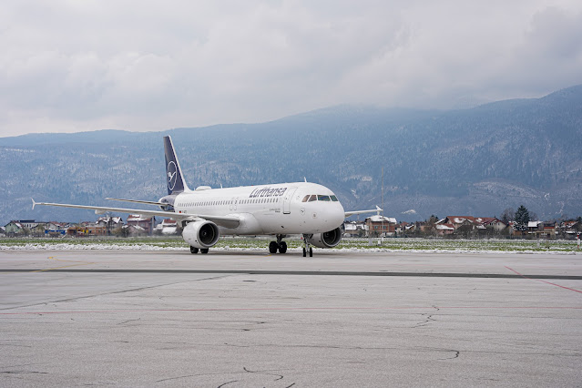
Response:
[{"label": "long airplane wing extending to the left above the engine", "polygon": [[124,208],[109,208],[105,206],[71,205],[68,203],[35,202],[35,199],[33,199],[32,201],[33,209],[35,209],[36,205],[43,205],[43,206],[58,206],[61,208],[95,210],[95,214],[105,214],[107,211],[112,211],[117,213],[139,214],[142,216],[165,217],[177,221],[209,220],[225,228],[236,228],[237,226],[239,226],[240,223],[240,218],[236,216],[211,216],[204,214],[175,213],[173,211],[163,211],[163,210],[124,209]]}]

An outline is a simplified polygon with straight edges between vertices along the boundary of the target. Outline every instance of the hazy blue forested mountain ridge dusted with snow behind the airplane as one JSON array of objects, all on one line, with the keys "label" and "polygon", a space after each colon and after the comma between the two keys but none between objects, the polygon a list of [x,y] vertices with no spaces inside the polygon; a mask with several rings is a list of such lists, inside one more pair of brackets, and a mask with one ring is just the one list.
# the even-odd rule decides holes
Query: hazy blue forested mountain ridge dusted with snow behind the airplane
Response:
[{"label": "hazy blue forested mountain ridge dusted with snow behind the airplane", "polygon": [[[103,130],[0,138],[0,223],[91,220],[36,200],[105,204],[165,194],[161,137],[170,134],[189,186],[298,181],[333,189],[348,209],[381,202],[399,220],[582,213],[582,86],[535,99],[451,111],[329,107],[261,124]],[[403,215],[415,209],[416,215]]]}]

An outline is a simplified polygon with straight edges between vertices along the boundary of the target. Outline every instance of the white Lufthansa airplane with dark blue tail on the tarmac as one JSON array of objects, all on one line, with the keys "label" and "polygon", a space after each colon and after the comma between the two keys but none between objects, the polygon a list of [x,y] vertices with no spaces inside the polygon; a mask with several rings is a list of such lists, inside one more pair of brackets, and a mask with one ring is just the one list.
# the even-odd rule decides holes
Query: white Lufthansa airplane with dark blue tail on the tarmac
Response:
[{"label": "white Lufthansa airplane with dark blue tail on the tarmac", "polygon": [[190,252],[208,253],[221,235],[276,238],[269,244],[270,253],[285,253],[288,235],[302,235],[303,257],[313,256],[312,246],[333,248],[342,240],[342,223],[355,214],[378,214],[382,209],[344,211],[331,189],[316,183],[277,183],[271,185],[211,189],[189,189],[182,175],[172,139],[164,137],[168,195],[157,202],[139,199],[114,199],[158,206],[161,210],[124,209],[102,206],[71,205],[33,201],[36,205],[91,209],[96,214],[118,212],[176,220]]}]

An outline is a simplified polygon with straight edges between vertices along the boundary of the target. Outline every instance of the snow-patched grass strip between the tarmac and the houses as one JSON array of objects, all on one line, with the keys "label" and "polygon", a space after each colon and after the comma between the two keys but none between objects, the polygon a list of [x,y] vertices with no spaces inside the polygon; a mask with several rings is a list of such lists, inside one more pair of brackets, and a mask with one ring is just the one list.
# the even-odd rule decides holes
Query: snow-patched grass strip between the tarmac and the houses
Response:
[{"label": "snow-patched grass strip between the tarmac and the houses", "polygon": [[[301,240],[287,240],[301,250]],[[224,238],[212,250],[267,250],[269,239]],[[0,250],[188,250],[179,238],[149,239],[0,239]],[[505,252],[582,254],[576,241],[566,240],[430,240],[344,239],[334,250],[369,252]]]}]

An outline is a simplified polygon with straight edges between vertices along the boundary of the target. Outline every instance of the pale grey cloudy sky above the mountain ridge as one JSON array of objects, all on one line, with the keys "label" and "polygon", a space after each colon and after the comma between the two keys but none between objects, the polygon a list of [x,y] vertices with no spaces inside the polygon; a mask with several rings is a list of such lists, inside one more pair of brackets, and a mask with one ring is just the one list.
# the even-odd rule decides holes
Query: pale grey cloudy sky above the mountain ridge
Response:
[{"label": "pale grey cloudy sky above the mountain ridge", "polygon": [[579,0],[0,7],[0,137],[262,122],[346,103],[465,107],[581,83]]}]

